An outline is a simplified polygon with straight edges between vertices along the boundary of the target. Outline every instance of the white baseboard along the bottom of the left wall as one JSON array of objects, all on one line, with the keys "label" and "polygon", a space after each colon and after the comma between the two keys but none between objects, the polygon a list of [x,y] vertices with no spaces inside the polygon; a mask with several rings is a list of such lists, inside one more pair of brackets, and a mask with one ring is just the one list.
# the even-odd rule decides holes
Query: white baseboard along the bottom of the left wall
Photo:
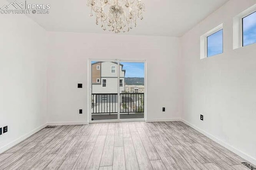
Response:
[{"label": "white baseboard along the bottom of the left wall", "polygon": [[18,139],[8,143],[7,145],[3,146],[0,148],[0,154],[5,152],[6,150],[10,149],[11,147],[14,147],[15,145],[17,145],[18,143],[21,143],[22,141],[24,141],[25,139],[27,139],[28,137],[34,135],[35,133],[37,133],[38,131],[44,129],[44,127],[46,127],[48,124],[44,123],[44,125],[41,125],[39,127],[37,127],[36,129],[30,131],[29,133],[19,137]]}]

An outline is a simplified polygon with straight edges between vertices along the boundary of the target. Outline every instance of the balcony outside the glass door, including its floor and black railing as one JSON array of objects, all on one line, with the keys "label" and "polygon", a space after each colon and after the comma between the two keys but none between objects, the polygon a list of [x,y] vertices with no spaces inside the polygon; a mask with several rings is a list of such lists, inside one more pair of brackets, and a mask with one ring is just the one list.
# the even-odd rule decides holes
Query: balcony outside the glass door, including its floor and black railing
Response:
[{"label": "balcony outside the glass door, including its floor and black railing", "polygon": [[[144,93],[120,94],[120,119],[144,118]],[[92,120],[118,119],[118,94],[92,94]]]}]

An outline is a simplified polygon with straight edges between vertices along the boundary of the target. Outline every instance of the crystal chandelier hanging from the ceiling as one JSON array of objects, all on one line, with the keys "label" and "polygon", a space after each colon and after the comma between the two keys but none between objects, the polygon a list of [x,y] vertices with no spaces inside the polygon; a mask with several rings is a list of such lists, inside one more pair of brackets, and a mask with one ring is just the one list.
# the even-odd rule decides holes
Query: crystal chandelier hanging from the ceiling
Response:
[{"label": "crystal chandelier hanging from the ceiling", "polygon": [[141,0],[88,0],[90,16],[96,15],[96,24],[103,30],[115,33],[128,32],[137,25],[137,19],[143,20],[145,10]]}]

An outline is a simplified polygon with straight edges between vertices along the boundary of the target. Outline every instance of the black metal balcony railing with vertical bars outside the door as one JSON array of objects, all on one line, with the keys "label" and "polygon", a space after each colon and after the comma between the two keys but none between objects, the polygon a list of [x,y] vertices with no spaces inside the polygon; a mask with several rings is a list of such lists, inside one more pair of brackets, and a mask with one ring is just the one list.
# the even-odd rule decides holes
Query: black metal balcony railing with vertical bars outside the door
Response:
[{"label": "black metal balcony railing with vertical bars outside the door", "polygon": [[[120,113],[143,113],[144,93],[120,94]],[[118,94],[92,94],[92,113],[118,113]]]}]

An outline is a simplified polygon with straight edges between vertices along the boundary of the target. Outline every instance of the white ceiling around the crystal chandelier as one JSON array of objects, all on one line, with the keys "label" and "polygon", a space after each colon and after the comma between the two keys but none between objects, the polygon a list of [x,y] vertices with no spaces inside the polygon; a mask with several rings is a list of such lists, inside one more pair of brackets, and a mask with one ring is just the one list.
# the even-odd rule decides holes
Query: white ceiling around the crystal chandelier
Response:
[{"label": "white ceiling around the crystal chandelier", "polygon": [[[11,1],[11,0],[8,0]],[[22,2],[22,0],[18,0]],[[142,0],[144,20],[125,34],[180,37],[228,0]],[[112,33],[103,31],[90,17],[87,0],[27,0],[51,5],[50,14],[29,14],[47,31]]]}]

